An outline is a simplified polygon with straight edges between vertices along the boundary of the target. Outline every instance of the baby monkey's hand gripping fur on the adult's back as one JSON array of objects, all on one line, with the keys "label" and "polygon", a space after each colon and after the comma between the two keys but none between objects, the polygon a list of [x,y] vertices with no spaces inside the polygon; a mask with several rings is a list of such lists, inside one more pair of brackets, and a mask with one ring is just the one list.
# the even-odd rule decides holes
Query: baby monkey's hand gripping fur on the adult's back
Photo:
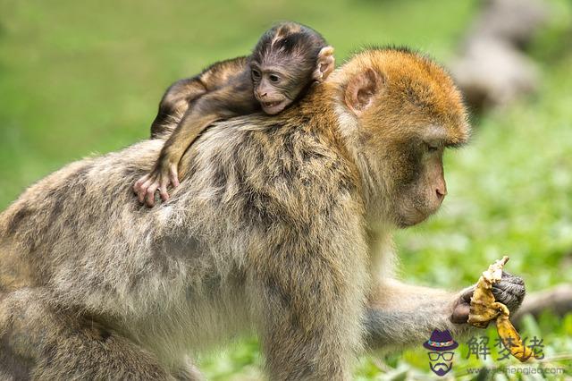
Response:
[{"label": "baby monkey's hand gripping fur on the adult's back", "polygon": [[156,167],[149,174],[135,182],[133,190],[137,193],[141,204],[145,202],[147,207],[154,207],[156,190],[159,190],[161,199],[166,201],[169,199],[169,192],[167,192],[167,186],[169,185],[172,185],[173,188],[179,186],[177,165],[171,164],[167,160],[159,160]]}]

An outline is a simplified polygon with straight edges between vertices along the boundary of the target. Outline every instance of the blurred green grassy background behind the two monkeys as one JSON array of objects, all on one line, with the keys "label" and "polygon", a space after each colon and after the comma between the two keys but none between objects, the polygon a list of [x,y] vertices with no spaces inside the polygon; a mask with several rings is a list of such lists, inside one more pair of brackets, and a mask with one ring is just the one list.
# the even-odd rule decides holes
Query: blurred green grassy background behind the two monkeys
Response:
[{"label": "blurred green grassy background behind the two monkeys", "polygon": [[[572,4],[529,54],[541,65],[535,97],[474,118],[472,144],[446,157],[449,196],[428,223],[397,234],[402,277],[459,289],[492,260],[534,292],[572,283]],[[274,21],[319,30],[340,63],[367,44],[408,45],[447,63],[478,10],[476,0],[73,1],[0,0],[0,209],[72,160],[147,138],[164,89],[214,61],[248,54]],[[489,329],[488,334],[494,335]],[[572,377],[572,315],[528,318],[549,361]],[[513,376],[513,360],[465,360]],[[550,360],[555,359],[555,360]],[[208,379],[261,377],[256,340],[201,355]],[[357,379],[425,379],[426,353],[363,356]],[[492,377],[489,374],[488,377]],[[561,376],[567,377],[567,376]],[[483,378],[480,378],[483,379]]]}]

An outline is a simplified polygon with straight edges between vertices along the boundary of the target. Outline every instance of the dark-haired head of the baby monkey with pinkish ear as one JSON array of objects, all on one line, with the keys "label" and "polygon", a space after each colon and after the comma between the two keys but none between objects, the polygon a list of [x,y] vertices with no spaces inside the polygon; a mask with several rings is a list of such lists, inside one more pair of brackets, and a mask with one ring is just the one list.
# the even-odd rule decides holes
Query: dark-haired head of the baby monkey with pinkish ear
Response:
[{"label": "dark-haired head of the baby monkey with pinkish ear", "polygon": [[278,114],[333,71],[333,47],[315,30],[285,22],[258,40],[249,64],[254,96],[266,114]]}]

